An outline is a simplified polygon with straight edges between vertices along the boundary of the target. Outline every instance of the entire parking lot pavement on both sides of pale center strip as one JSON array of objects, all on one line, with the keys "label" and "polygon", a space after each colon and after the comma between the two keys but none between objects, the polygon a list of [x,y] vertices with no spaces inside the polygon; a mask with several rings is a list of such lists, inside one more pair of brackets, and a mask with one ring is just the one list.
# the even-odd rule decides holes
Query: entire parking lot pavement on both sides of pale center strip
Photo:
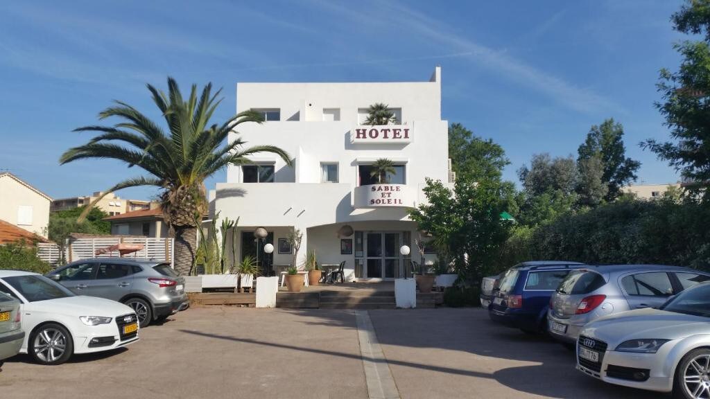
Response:
[{"label": "entire parking lot pavement on both sides of pale center strip", "polygon": [[[484,310],[369,315],[401,398],[662,397],[586,377],[571,351]],[[356,316],[343,310],[195,308],[121,351],[61,366],[16,356],[3,370],[10,399],[368,397]]]}]

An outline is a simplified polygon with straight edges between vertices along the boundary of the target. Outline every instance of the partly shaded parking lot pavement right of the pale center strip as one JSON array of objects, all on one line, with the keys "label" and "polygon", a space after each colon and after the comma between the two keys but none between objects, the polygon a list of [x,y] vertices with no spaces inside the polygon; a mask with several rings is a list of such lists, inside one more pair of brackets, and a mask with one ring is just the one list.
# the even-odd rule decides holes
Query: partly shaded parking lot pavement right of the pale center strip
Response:
[{"label": "partly shaded parking lot pavement right of the pale center strip", "polygon": [[402,398],[663,398],[574,369],[574,352],[481,309],[372,310]]}]

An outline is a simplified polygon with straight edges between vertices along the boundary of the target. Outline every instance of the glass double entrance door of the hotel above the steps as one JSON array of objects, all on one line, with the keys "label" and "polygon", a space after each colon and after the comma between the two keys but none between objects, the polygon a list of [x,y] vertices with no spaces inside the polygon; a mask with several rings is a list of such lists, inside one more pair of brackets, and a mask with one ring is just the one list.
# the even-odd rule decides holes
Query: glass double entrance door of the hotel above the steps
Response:
[{"label": "glass double entrance door of the hotel above the steps", "polygon": [[400,233],[368,232],[365,239],[365,278],[400,276]]}]

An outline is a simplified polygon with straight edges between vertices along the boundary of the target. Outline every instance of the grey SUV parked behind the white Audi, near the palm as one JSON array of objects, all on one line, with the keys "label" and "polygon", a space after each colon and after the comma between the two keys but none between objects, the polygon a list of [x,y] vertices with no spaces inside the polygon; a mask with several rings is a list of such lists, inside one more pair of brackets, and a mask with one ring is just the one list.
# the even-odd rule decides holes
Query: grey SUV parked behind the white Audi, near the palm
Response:
[{"label": "grey SUV parked behind the white Audi, near the palm", "polygon": [[102,297],[129,305],[146,327],[189,306],[185,278],[169,263],[136,258],[90,258],[47,274],[77,295]]}]

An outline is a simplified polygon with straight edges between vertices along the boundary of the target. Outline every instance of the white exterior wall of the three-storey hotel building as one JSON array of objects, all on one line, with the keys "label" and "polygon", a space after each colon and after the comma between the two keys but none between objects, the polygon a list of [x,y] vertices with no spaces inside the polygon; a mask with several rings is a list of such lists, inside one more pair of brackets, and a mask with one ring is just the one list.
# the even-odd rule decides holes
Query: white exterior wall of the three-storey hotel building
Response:
[{"label": "white exterior wall of the three-storey hotel building", "polygon": [[[336,231],[343,224],[358,224],[365,230],[402,231],[410,207],[425,200],[425,180],[448,181],[448,123],[441,119],[439,67],[428,82],[386,83],[239,83],[237,111],[280,109],[280,121],[238,126],[247,146],[275,145],[295,158],[294,167],[271,153],[260,153],[255,163],[275,165],[275,182],[243,183],[241,168],[230,167],[227,181],[217,184],[214,212],[221,217],[239,217],[241,229],[264,226],[304,233],[299,258],[316,249],[320,263],[339,263],[354,256],[341,256]],[[351,130],[359,126],[358,110],[374,103],[401,109],[398,127],[409,129],[409,143],[353,143]],[[324,121],[323,109],[339,109],[339,121]],[[326,118],[327,119],[327,118]],[[392,126],[383,126],[392,127]],[[232,133],[230,140],[238,137]],[[357,165],[388,158],[406,165],[401,207],[361,207],[364,188],[357,185]],[[321,182],[321,163],[338,163],[338,182]],[[361,223],[362,222],[362,223]],[[395,222],[388,226],[387,222]],[[312,229],[316,226],[327,226]],[[282,229],[286,228],[286,229]],[[415,231],[408,222],[406,230]],[[321,256],[322,254],[322,256]],[[275,263],[285,263],[275,253]],[[290,263],[290,259],[288,259]]]}]

